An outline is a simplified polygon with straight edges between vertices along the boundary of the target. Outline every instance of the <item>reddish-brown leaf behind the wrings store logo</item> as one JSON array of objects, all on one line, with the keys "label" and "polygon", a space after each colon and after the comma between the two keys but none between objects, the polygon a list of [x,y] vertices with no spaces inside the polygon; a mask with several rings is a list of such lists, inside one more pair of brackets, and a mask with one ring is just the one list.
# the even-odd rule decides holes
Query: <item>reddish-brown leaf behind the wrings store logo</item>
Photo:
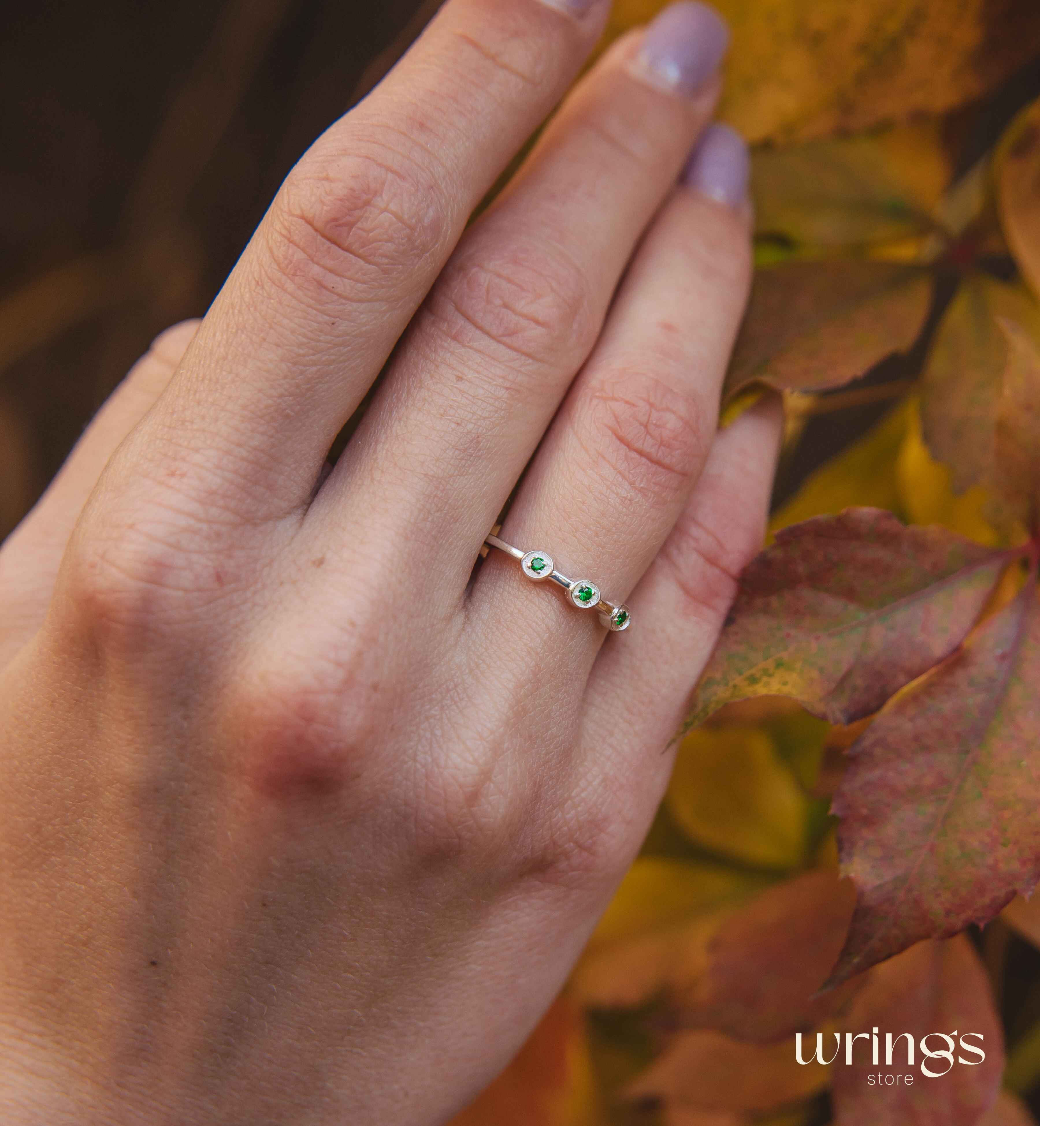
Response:
[{"label": "reddish-brown leaf behind the wrings store logo", "polygon": [[[846,1027],[866,1038],[852,1045],[852,1065],[834,1071],[833,1099],[839,1126],[976,1126],[996,1100],[1004,1066],[1001,1021],[989,993],[989,982],[971,944],[960,936],[946,942],[921,942],[878,966],[852,1002]],[[871,1029],[879,1029],[878,1061],[873,1060]],[[967,1043],[985,1052],[959,1051],[937,1034],[974,1033],[981,1039]],[[887,1063],[886,1033],[892,1034],[892,1066]],[[907,1033],[915,1042],[914,1066],[907,1064]],[[931,1051],[953,1048],[945,1074],[923,1074],[922,1063],[941,1073],[943,1058],[922,1057],[922,1037]],[[958,1063],[958,1055],[967,1063]],[[844,1060],[844,1056],[842,1057]],[[880,1066],[879,1066],[880,1065]],[[868,1084],[869,1072],[914,1074],[914,1082]]]}]

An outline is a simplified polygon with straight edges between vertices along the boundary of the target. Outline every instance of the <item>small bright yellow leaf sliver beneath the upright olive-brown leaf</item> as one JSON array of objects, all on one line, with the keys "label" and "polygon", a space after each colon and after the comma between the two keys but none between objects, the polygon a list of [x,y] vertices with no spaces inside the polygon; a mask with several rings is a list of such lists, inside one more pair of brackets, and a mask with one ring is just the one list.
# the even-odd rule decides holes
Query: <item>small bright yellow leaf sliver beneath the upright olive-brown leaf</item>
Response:
[{"label": "small bright yellow leaf sliver beneath the upright olive-brown leaf", "polygon": [[950,470],[928,453],[921,436],[921,412],[916,400],[908,411],[906,437],[896,458],[899,501],[914,524],[941,524],[980,544],[995,546],[996,529],[985,517],[989,498],[975,485],[959,497],[954,494]]}]

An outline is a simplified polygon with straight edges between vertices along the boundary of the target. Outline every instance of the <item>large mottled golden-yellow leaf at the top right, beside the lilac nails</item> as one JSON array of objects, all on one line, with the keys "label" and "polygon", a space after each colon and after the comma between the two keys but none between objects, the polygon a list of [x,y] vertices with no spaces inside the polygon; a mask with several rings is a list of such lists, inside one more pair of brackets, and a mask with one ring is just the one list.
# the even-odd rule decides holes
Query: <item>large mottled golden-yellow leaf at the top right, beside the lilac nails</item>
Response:
[{"label": "large mottled golden-yellow leaf at the top right, beside the lilac nails", "polygon": [[[608,36],[665,0],[616,0]],[[752,141],[852,132],[979,97],[1032,57],[1040,8],[990,0],[715,0],[734,39],[722,116]]]}]

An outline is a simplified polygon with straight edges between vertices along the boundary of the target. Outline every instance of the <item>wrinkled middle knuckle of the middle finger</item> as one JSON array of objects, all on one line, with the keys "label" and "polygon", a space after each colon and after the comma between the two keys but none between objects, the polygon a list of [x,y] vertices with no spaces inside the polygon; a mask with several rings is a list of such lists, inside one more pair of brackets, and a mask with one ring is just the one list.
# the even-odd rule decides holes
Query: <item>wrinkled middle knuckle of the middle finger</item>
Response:
[{"label": "wrinkled middle knuckle of the middle finger", "polygon": [[584,355],[593,332],[588,280],[544,245],[460,260],[434,292],[430,312],[456,343],[537,366]]}]

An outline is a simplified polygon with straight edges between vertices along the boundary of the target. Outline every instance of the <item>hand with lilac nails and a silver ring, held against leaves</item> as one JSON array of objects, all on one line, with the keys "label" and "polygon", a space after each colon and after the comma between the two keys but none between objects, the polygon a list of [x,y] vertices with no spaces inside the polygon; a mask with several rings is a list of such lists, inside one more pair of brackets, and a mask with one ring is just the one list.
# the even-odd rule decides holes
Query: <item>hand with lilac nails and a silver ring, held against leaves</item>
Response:
[{"label": "hand with lilac nails and a silver ring, held against leaves", "polygon": [[[706,9],[463,231],[604,18],[450,0],[3,546],[6,1123],[443,1121],[638,849],[779,417],[715,434],[749,239]],[[471,581],[536,447],[501,535],[621,636],[500,553]]]}]

